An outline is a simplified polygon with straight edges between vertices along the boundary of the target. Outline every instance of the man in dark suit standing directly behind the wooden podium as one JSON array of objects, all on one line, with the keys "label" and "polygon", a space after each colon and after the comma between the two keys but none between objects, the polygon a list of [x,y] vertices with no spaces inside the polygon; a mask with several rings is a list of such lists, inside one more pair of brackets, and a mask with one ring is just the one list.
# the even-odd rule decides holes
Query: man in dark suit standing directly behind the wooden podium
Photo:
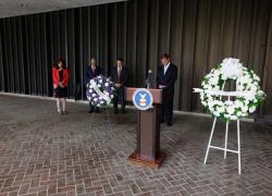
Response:
[{"label": "man in dark suit standing directly behind the wooden podium", "polygon": [[162,89],[162,119],[172,126],[174,84],[177,76],[177,68],[171,62],[168,53],[160,57],[161,65],[157,71],[157,87]]}]

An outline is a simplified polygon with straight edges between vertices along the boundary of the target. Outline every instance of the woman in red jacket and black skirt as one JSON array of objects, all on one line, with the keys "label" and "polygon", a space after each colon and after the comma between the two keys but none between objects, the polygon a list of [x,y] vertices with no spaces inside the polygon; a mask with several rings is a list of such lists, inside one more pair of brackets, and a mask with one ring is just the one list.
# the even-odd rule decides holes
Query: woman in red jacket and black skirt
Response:
[{"label": "woman in red jacket and black skirt", "polygon": [[58,112],[60,114],[66,114],[69,70],[63,60],[58,60],[57,64],[53,65],[52,75],[53,75],[53,96],[54,98],[57,98]]}]

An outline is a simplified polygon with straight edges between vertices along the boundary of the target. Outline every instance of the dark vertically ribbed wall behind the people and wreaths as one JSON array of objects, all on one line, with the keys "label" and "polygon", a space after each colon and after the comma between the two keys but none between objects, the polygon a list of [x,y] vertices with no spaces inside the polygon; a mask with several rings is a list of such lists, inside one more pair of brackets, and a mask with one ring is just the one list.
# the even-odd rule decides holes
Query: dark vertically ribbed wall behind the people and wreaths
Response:
[{"label": "dark vertically ribbed wall behind the people and wreaths", "polygon": [[[131,0],[0,20],[2,91],[52,96],[51,66],[66,60],[70,96],[83,85],[90,57],[106,75],[125,60],[132,86],[156,74],[161,52],[178,68],[174,107],[202,111],[191,88],[215,63],[235,57],[262,78],[272,115],[271,0]],[[83,94],[83,93],[82,93]]]}]

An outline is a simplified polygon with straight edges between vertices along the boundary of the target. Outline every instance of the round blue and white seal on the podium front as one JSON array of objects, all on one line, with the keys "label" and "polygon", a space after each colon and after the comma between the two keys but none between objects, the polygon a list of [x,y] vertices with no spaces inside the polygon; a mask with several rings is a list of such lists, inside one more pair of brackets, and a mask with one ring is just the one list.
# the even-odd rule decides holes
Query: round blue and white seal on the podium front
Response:
[{"label": "round blue and white seal on the podium front", "polygon": [[152,107],[153,96],[147,88],[139,88],[133,94],[133,103],[139,110],[148,110]]}]

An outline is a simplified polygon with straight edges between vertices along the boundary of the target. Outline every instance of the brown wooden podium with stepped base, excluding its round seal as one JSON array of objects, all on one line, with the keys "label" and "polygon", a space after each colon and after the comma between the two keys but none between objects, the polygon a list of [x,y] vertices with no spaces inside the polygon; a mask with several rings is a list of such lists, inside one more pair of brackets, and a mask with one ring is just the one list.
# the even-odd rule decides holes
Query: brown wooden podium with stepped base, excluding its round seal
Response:
[{"label": "brown wooden podium with stepped base, excluding its round seal", "polygon": [[[137,88],[125,89],[126,101],[133,101],[133,94]],[[165,154],[160,151],[160,120],[162,90],[150,89],[153,106],[148,110],[138,110],[137,113],[137,149],[128,160],[133,163],[159,168],[165,159]]]}]

